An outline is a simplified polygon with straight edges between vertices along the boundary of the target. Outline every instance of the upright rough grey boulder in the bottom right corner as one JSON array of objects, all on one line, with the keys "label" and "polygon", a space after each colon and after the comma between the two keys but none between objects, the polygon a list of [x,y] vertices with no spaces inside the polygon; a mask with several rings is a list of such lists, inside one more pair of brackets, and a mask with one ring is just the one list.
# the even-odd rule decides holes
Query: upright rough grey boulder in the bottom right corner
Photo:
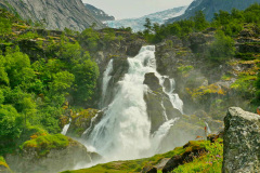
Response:
[{"label": "upright rough grey boulder in the bottom right corner", "polygon": [[260,172],[260,116],[231,107],[224,123],[222,172]]}]

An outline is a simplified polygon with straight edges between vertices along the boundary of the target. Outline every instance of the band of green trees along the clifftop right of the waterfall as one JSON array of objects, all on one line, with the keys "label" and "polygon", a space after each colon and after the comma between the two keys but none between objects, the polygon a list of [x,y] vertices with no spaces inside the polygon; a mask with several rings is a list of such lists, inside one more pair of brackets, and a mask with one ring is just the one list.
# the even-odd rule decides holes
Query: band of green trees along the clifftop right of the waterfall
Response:
[{"label": "band of green trees along the clifftop right of the waterfall", "polygon": [[207,22],[205,14],[202,11],[196,12],[194,17],[184,21],[178,21],[169,25],[152,26],[150,19],[144,25],[146,29],[140,35],[144,35],[147,41],[156,43],[160,42],[169,36],[178,36],[185,38],[188,34],[194,31],[204,31],[209,27],[224,31],[226,36],[235,36],[242,31],[245,23],[251,23],[257,26],[260,24],[258,17],[260,13],[260,4],[250,5],[245,11],[233,9],[231,13],[219,11],[214,14],[212,22]]}]

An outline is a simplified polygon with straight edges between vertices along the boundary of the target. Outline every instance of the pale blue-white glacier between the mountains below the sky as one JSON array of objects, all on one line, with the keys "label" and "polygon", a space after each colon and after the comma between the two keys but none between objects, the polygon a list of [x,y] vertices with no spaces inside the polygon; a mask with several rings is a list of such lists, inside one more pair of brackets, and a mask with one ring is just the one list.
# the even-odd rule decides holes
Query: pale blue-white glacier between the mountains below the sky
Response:
[{"label": "pale blue-white glacier between the mountains below the sky", "polygon": [[119,21],[108,21],[106,25],[112,28],[131,27],[134,31],[144,29],[145,18],[150,18],[152,23],[164,24],[166,19],[179,16],[185,12],[187,6],[169,9],[161,12],[152,13],[140,18],[127,18]]}]

